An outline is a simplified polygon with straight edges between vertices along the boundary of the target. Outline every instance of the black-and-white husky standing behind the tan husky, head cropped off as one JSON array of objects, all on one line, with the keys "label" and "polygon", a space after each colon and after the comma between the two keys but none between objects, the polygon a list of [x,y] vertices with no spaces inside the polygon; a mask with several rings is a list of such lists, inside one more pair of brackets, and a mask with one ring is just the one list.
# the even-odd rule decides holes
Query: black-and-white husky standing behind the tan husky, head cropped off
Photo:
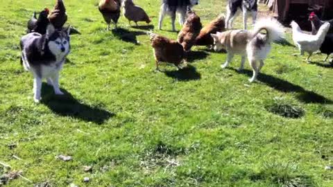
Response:
[{"label": "black-and-white husky standing behind the tan husky, head cropped off", "polygon": [[232,21],[239,15],[239,10],[243,12],[244,29],[246,29],[248,12],[251,13],[253,24],[255,24],[258,11],[257,0],[229,0],[227,5],[227,19],[225,19],[225,26],[228,29],[232,28]]}]

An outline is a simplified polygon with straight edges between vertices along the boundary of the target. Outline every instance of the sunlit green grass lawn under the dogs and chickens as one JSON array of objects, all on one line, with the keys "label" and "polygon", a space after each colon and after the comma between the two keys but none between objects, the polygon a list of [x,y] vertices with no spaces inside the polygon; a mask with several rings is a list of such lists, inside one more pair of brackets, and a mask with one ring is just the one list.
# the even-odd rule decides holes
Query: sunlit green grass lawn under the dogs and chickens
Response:
[{"label": "sunlit green grass lawn under the dogs and chickens", "polygon": [[[37,105],[19,38],[33,11],[53,3],[1,1],[0,176],[22,170],[30,180],[6,186],[333,186],[325,170],[333,164],[333,69],[324,55],[307,64],[291,55],[295,47],[273,44],[249,84],[248,62],[242,73],[239,56],[221,69],[226,54],[203,46],[192,48],[188,69],[163,65],[157,73],[145,32],[177,38],[169,17],[157,29],[159,0],[135,1],[155,28],[131,28],[121,16],[110,32],[95,0],[68,0],[68,24],[82,34],[71,36],[60,74],[66,95],[43,84]],[[194,10],[207,24],[225,1]]]}]

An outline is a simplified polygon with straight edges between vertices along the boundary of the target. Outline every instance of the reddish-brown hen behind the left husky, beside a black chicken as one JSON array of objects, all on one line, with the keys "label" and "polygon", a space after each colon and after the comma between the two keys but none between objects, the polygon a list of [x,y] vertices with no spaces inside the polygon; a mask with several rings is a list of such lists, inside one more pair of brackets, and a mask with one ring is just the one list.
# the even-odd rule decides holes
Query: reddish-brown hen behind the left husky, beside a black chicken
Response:
[{"label": "reddish-brown hen behind the left husky, beside a black chicken", "polygon": [[67,14],[64,2],[57,0],[52,12],[49,14],[50,23],[57,29],[62,28],[67,21]]}]

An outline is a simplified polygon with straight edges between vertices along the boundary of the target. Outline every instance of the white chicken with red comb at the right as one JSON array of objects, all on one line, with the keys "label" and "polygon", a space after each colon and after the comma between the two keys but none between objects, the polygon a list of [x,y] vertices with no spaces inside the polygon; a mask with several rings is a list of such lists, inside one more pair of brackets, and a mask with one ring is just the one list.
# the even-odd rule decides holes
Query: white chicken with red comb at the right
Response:
[{"label": "white chicken with red comb at the right", "polygon": [[309,53],[307,57],[307,62],[309,62],[309,58],[312,53],[318,51],[321,48],[321,44],[323,44],[325,35],[327,31],[330,29],[330,23],[325,23],[319,28],[318,33],[316,35],[309,35],[303,33],[300,30],[300,26],[295,21],[291,21],[291,28],[293,28],[293,42],[296,46],[298,46],[298,50],[300,51],[300,55],[303,55],[304,52]]}]

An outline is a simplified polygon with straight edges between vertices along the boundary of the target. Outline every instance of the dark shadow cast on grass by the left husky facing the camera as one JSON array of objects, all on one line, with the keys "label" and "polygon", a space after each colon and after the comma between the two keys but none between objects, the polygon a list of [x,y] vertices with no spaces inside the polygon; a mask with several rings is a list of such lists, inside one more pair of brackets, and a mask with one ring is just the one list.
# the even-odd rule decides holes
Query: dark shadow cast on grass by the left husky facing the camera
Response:
[{"label": "dark shadow cast on grass by the left husky facing the camera", "polygon": [[100,107],[81,103],[65,89],[61,89],[61,91],[64,95],[57,96],[53,94],[53,87],[46,83],[42,85],[42,93],[45,93],[42,96],[42,104],[49,107],[53,113],[59,116],[69,116],[87,122],[102,124],[116,115]]}]

